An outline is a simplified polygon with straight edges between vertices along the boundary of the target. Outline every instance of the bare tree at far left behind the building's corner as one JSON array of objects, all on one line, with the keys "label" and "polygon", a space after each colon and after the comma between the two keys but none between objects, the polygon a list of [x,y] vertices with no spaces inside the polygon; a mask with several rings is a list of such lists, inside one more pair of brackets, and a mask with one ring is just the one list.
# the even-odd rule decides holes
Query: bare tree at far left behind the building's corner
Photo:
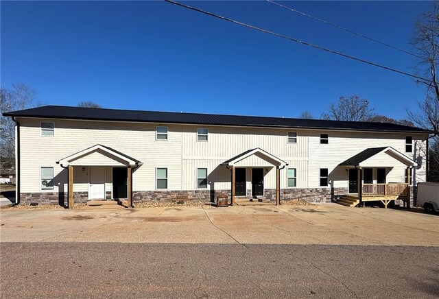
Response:
[{"label": "bare tree at far left behind the building's corner", "polygon": [[3,112],[23,110],[39,106],[36,92],[25,84],[12,84],[12,88],[0,88],[0,169],[15,167],[15,123]]}]

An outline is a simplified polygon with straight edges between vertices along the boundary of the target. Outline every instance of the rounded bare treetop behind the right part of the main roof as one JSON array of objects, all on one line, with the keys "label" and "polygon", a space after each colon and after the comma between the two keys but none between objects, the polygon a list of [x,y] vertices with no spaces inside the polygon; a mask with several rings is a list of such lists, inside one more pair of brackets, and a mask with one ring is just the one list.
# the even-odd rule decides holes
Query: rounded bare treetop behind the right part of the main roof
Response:
[{"label": "rounded bare treetop behind the right part of the main roof", "polygon": [[335,121],[368,121],[374,116],[369,101],[359,95],[340,97],[337,103],[329,104],[328,113],[322,114],[322,119]]}]

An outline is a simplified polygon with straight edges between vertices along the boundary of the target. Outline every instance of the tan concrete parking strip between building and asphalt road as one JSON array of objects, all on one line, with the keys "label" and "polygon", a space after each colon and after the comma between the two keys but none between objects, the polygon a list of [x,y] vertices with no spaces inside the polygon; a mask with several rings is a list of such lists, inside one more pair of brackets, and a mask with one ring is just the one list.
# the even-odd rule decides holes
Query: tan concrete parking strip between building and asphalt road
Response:
[{"label": "tan concrete parking strip between building and asphalt road", "polygon": [[439,246],[439,217],[383,208],[178,206],[6,209],[1,242]]}]

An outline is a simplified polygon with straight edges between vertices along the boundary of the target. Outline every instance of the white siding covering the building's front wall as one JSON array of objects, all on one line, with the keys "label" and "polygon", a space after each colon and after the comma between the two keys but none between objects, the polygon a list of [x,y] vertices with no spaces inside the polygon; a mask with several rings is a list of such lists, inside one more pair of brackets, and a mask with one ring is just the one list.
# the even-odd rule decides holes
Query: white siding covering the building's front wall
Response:
[{"label": "white siding covering the building's front wall", "polygon": [[[40,119],[20,119],[21,122],[21,192],[40,192],[40,167],[54,167],[55,190],[66,191],[67,171],[56,160],[96,144],[106,145],[143,162],[134,170],[133,190],[150,191],[156,188],[156,168],[168,169],[169,190],[193,190],[197,186],[196,169],[207,168],[209,189],[230,189],[230,170],[220,165],[246,150],[262,150],[285,160],[286,168],[297,169],[297,188],[320,187],[320,168],[329,169],[333,187],[348,187],[346,168],[337,167],[368,147],[391,146],[405,153],[403,133],[342,132],[318,130],[286,130],[279,128],[234,128],[222,126],[170,125],[150,123],[117,123],[104,121],[50,120],[55,123],[54,136],[40,136]],[[168,140],[156,140],[156,126],[168,127]],[[197,141],[197,128],[209,129],[209,141]],[[297,143],[287,143],[287,133],[297,133]],[[329,144],[320,145],[320,133],[329,134]],[[407,134],[408,135],[408,134]],[[415,182],[425,180],[426,134],[411,134],[414,152],[407,156],[420,166],[414,170]],[[387,155],[388,156],[388,155]],[[93,161],[89,160],[93,158]],[[108,160],[84,157],[82,164],[110,166]],[[115,163],[114,161],[112,163]],[[405,168],[388,156],[379,165],[388,167],[388,181],[403,182]],[[115,165],[118,165],[115,163]],[[252,156],[239,165],[261,166],[265,174],[265,188],[276,185],[275,167],[266,160]],[[287,188],[287,169],[281,170],[281,188]],[[88,191],[87,170],[75,167],[75,191]],[[106,190],[112,189],[111,167],[107,168]],[[250,189],[251,169],[247,171]]]}]

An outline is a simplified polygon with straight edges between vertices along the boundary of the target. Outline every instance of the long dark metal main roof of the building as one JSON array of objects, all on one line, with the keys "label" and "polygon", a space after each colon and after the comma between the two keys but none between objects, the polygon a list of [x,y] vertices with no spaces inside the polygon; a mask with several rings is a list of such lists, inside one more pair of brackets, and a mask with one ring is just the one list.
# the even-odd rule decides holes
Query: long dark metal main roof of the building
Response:
[{"label": "long dark metal main roof of the building", "polygon": [[250,117],[239,115],[209,115],[199,113],[156,112],[141,110],[117,110],[104,108],[80,108],[69,106],[42,106],[3,113],[9,117],[38,117],[49,119],[84,119],[99,121],[133,121],[145,123],[181,123],[197,125],[237,125],[268,128],[307,128],[327,130],[355,130],[379,132],[433,131],[396,125],[394,123],[371,123],[364,121],[327,121],[322,119],[287,119],[281,117]]}]

